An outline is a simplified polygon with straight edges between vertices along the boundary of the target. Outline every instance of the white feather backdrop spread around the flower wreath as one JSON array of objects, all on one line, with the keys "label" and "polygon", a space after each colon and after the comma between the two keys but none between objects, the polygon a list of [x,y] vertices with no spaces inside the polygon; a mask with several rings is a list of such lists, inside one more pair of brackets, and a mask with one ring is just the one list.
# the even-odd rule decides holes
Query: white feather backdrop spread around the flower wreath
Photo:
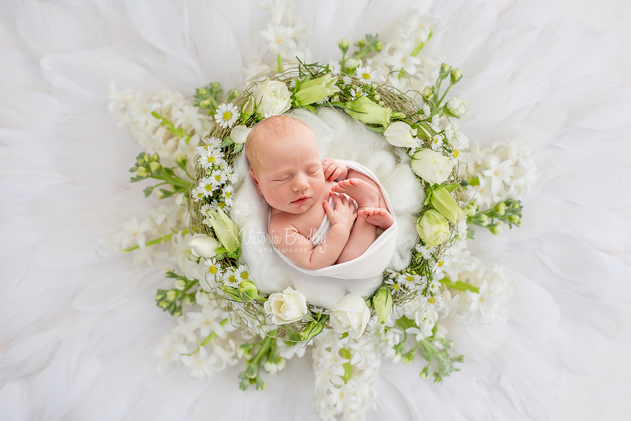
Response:
[{"label": "white feather backdrop spread around the flower wreath", "polygon": [[[479,232],[472,243],[518,286],[508,322],[447,326],[466,363],[442,385],[419,378],[419,361],[384,362],[367,416],[545,420],[564,371],[603,369],[629,304],[630,8],[313,1],[296,12],[311,29],[313,59],[325,61],[339,59],[341,38],[387,38],[412,6],[443,18],[428,48],[466,75],[454,94],[469,103],[468,137],[526,140],[540,180],[521,228],[492,240]],[[238,85],[266,12],[256,1],[203,0],[14,0],[2,11],[1,419],[317,419],[308,357],[265,392],[238,390],[236,367],[202,381],[159,376],[151,353],[176,323],[154,302],[162,268],[95,252],[95,239],[157,204],[128,182],[141,149],[107,111],[111,81],[151,94]],[[623,368],[604,367],[628,377]],[[564,402],[557,420],[588,419],[576,408],[600,404]]]}]

